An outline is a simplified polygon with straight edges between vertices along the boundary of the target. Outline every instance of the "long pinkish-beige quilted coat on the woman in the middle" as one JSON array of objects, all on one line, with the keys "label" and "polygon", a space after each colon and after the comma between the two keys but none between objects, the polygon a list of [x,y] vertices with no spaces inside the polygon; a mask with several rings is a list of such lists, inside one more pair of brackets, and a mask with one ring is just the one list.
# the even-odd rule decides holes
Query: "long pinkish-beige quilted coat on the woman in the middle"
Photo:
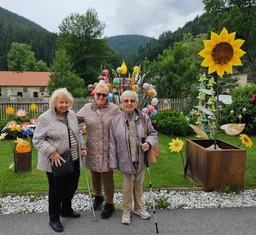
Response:
[{"label": "long pinkish-beige quilted coat on the woman in the middle", "polygon": [[96,172],[110,171],[109,142],[111,120],[121,113],[120,108],[107,102],[99,107],[95,101],[85,104],[77,113],[79,123],[85,121],[87,129],[85,165]]}]

